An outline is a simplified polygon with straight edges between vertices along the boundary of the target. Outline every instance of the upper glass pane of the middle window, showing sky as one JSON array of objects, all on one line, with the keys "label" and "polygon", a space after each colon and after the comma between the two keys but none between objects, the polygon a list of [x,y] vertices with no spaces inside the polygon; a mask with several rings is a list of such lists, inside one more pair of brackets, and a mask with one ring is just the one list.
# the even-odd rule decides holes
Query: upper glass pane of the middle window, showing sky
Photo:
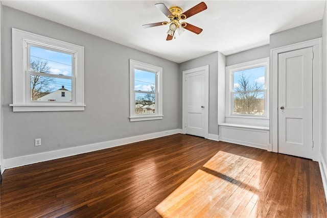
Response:
[{"label": "upper glass pane of the middle window, showing sky", "polygon": [[134,69],[134,90],[155,92],[155,73]]}]

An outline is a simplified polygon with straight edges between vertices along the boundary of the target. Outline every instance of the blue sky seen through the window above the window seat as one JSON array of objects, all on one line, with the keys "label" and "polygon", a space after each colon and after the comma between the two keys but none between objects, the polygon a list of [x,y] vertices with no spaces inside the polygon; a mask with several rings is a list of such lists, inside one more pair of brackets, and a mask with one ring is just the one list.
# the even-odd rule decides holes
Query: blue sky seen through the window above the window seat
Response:
[{"label": "blue sky seen through the window above the window seat", "polygon": [[[265,66],[255,67],[234,72],[234,87],[239,86],[238,81],[242,76],[242,72],[246,78],[249,78],[250,84],[257,82],[265,85]],[[263,86],[264,87],[264,86]]]}]

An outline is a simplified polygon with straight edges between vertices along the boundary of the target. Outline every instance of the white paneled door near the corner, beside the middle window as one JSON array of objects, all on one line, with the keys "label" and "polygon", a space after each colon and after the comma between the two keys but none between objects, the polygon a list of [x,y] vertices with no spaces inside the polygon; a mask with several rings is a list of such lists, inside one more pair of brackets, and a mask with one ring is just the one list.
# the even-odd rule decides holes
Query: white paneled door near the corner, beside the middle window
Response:
[{"label": "white paneled door near the corner, beside the middle window", "polygon": [[183,71],[183,133],[208,137],[208,66]]}]

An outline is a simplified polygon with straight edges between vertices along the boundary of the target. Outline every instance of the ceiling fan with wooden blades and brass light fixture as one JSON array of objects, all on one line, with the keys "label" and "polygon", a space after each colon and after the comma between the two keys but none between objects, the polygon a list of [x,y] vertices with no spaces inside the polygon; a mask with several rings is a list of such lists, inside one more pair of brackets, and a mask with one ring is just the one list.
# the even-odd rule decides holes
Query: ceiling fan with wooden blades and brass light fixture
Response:
[{"label": "ceiling fan with wooden blades and brass light fixture", "polygon": [[158,4],[155,4],[155,6],[162,13],[164,13],[168,17],[168,19],[170,19],[170,21],[145,24],[145,25],[143,25],[144,28],[157,27],[157,26],[169,24],[169,30],[167,32],[168,35],[167,35],[166,40],[172,40],[176,30],[179,35],[184,32],[184,29],[189,30],[196,34],[200,34],[202,32],[201,28],[198,28],[187,22],[179,22],[179,21],[189,18],[189,17],[207,9],[206,4],[204,2],[197,4],[196,6],[194,6],[193,8],[190,8],[189,10],[185,11],[184,13],[183,13],[183,10],[177,6],[173,6],[169,9],[166,7],[166,5],[164,3],[158,3]]}]

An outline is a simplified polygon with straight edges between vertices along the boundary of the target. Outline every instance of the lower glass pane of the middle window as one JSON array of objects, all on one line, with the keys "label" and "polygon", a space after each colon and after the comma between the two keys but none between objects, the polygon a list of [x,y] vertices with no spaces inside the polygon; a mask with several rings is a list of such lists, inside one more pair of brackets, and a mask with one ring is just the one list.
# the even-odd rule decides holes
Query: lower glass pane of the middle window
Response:
[{"label": "lower glass pane of the middle window", "polygon": [[155,93],[135,93],[135,114],[155,113]]}]

